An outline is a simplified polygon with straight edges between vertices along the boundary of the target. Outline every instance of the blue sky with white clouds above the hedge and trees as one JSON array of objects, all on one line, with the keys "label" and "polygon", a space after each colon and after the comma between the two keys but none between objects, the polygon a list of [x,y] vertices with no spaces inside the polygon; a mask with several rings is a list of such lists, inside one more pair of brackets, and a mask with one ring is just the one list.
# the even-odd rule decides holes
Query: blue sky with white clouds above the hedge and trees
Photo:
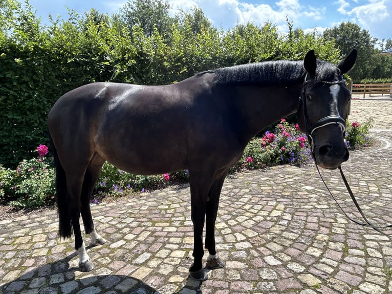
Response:
[{"label": "blue sky with white clouds above the hedge and trees", "polygon": [[[60,14],[67,18],[67,9],[79,13],[91,8],[101,13],[111,14],[124,5],[126,0],[30,0],[37,16],[43,23],[48,22],[48,14],[55,18]],[[353,22],[366,29],[373,36],[381,39],[392,38],[392,0],[168,0],[171,13],[179,8],[189,9],[199,6],[212,24],[226,30],[237,23],[254,22],[263,25],[266,22],[276,24],[279,30],[287,31],[286,16],[293,22],[294,28],[304,31],[317,29],[322,32],[341,22]]]}]

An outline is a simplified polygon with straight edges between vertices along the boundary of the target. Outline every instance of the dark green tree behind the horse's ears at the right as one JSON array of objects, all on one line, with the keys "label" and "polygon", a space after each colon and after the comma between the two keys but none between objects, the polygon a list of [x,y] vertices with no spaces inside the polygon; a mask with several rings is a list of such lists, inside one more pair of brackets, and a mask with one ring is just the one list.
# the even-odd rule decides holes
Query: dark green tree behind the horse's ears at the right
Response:
[{"label": "dark green tree behind the horse's ears at the right", "polygon": [[367,30],[350,22],[326,29],[323,35],[326,39],[335,40],[342,57],[354,48],[358,50],[356,66],[350,71],[353,81],[359,82],[369,77],[369,73],[372,73],[375,68],[372,57],[377,39],[373,38]]}]

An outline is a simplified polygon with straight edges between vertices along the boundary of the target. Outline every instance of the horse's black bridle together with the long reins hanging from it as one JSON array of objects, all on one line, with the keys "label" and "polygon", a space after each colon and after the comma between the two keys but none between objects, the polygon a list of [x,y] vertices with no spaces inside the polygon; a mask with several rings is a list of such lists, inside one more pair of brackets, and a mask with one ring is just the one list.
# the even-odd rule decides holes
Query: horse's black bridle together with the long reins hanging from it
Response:
[{"label": "horse's black bridle together with the long reins hanging from it", "polygon": [[[310,80],[306,80],[306,79],[305,79],[305,81],[304,81],[304,83],[303,83],[303,86],[306,85],[308,82],[310,82]],[[345,83],[345,80],[344,80],[344,79],[341,79],[341,80],[336,80],[336,81],[322,81],[322,83],[325,83],[325,84],[327,84],[327,85],[336,85],[336,84],[339,84],[339,83]],[[342,134],[344,135],[344,132],[345,132],[345,130],[346,130],[346,122],[345,122],[345,120],[344,120],[342,117],[338,116],[338,115],[330,115],[330,116],[326,116],[326,117],[324,117],[324,118],[319,119],[319,120],[316,121],[313,125],[311,125],[311,124],[310,124],[310,121],[309,121],[308,111],[307,111],[307,108],[306,108],[306,93],[305,93],[303,87],[302,87],[301,97],[299,97],[299,100],[300,100],[300,102],[303,104],[303,114],[304,114],[304,120],[305,120],[305,125],[306,125],[306,133],[307,133],[308,140],[309,140],[309,143],[310,143],[310,146],[311,146],[312,156],[313,156],[314,162],[315,162],[315,164],[316,164],[317,172],[318,172],[318,174],[320,175],[320,178],[321,178],[322,182],[324,183],[324,185],[325,185],[325,187],[326,187],[326,190],[328,190],[328,192],[331,194],[332,198],[335,200],[336,204],[338,205],[338,207],[340,208],[340,210],[343,212],[343,214],[345,215],[345,217],[346,217],[347,219],[351,220],[352,222],[354,222],[354,223],[356,223],[356,224],[362,225],[362,226],[364,226],[364,227],[373,228],[373,229],[376,230],[378,233],[380,233],[380,234],[382,234],[382,235],[385,235],[385,236],[391,238],[390,235],[385,234],[385,233],[382,232],[380,229],[381,229],[381,228],[390,228],[390,227],[392,227],[392,224],[390,224],[390,225],[384,225],[384,226],[383,226],[383,225],[374,225],[374,224],[372,224],[371,222],[369,222],[369,221],[367,220],[367,218],[365,217],[364,213],[362,212],[361,207],[360,207],[359,204],[358,204],[357,199],[355,198],[355,196],[354,196],[354,194],[353,194],[353,191],[351,190],[351,187],[350,187],[350,185],[349,185],[349,182],[347,181],[346,177],[345,177],[344,174],[343,174],[343,171],[342,171],[340,165],[338,166],[338,169],[339,169],[339,171],[340,171],[340,175],[341,175],[341,177],[342,177],[342,179],[343,179],[344,185],[346,186],[346,189],[347,189],[347,191],[349,192],[351,199],[353,200],[355,206],[357,207],[358,212],[360,213],[360,215],[362,216],[362,218],[363,218],[363,220],[364,220],[365,222],[359,222],[359,221],[357,221],[357,220],[355,220],[355,219],[349,217],[349,216],[344,212],[343,208],[340,206],[339,202],[336,200],[336,198],[335,198],[334,195],[332,194],[330,188],[328,187],[328,185],[325,183],[323,177],[321,176],[320,170],[319,170],[319,168],[318,168],[318,163],[317,163],[317,159],[316,159],[316,156],[315,156],[315,152],[314,152],[314,142],[313,142],[312,134],[313,134],[313,132],[314,132],[315,130],[317,130],[317,129],[319,129],[319,128],[322,128],[322,127],[325,127],[325,125],[329,125],[329,124],[338,124],[339,127],[340,127],[341,130],[342,130]]]}]

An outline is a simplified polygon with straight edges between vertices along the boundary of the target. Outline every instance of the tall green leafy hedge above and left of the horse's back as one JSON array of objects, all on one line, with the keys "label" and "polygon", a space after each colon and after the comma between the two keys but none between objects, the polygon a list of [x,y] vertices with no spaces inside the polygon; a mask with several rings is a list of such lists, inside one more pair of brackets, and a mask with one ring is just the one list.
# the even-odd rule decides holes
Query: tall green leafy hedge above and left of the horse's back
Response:
[{"label": "tall green leafy hedge above and left of the horse's back", "polygon": [[32,158],[38,144],[47,144],[50,108],[86,83],[162,85],[238,63],[301,59],[310,48],[320,59],[339,59],[332,41],[294,32],[289,22],[288,35],[278,34],[270,23],[223,32],[201,13],[173,18],[168,31],[156,29],[147,36],[140,24],[127,27],[95,10],[82,16],[71,10],[68,19],[42,26],[28,1],[1,1],[0,164],[15,167]]}]

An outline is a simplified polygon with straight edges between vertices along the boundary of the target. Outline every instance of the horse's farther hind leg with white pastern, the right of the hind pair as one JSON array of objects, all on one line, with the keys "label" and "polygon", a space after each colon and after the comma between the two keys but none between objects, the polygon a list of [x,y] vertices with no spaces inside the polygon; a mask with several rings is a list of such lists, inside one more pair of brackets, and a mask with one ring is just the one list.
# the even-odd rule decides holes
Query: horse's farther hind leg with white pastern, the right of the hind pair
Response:
[{"label": "horse's farther hind leg with white pastern, the right of the hind pair", "polygon": [[86,173],[84,175],[82,192],[81,192],[81,215],[84,225],[85,234],[91,237],[91,245],[101,245],[106,242],[95,230],[93,217],[90,210],[90,199],[93,194],[94,185],[99,178],[99,174],[102,169],[102,164],[104,160],[95,154],[93,159],[90,161],[87,167]]}]

